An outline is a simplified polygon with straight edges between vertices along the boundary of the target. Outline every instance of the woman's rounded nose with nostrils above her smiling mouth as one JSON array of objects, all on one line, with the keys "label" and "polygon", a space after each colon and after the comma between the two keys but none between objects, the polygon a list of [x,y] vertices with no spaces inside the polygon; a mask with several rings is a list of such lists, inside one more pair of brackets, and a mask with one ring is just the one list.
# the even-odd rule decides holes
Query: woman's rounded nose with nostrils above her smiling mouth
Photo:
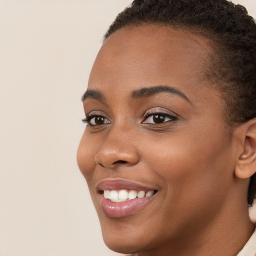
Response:
[{"label": "woman's rounded nose with nostrils above her smiling mouth", "polygon": [[98,148],[95,162],[108,169],[135,165],[139,161],[136,140],[128,131],[110,131]]}]

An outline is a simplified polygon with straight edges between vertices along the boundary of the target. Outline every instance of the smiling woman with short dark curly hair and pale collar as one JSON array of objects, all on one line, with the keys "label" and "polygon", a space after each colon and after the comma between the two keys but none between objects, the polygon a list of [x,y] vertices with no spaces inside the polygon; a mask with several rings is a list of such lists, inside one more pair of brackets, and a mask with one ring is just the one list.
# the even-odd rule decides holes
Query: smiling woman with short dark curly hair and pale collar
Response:
[{"label": "smiling woman with short dark curly hair and pale collar", "polygon": [[226,0],[134,0],[111,24],[77,153],[110,249],[256,253],[255,42]]}]

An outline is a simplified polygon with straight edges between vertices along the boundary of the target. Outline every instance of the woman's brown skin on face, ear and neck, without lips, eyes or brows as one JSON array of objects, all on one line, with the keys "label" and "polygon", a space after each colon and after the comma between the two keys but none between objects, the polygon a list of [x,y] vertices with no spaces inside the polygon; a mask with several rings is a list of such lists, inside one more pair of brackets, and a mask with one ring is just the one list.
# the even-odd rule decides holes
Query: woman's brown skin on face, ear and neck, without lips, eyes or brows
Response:
[{"label": "woman's brown skin on face, ear and neck, without lips, eyes or brows", "polygon": [[[246,135],[255,121],[226,125],[220,93],[202,78],[210,52],[206,39],[156,25],[120,29],[103,43],[88,88],[100,91],[105,102],[87,98],[83,104],[86,115],[100,114],[110,123],[86,126],[77,162],[110,249],[139,256],[233,256],[251,235],[246,192],[253,171],[244,155],[255,151],[256,131]],[[155,85],[172,86],[189,101],[168,92],[130,96]],[[149,123],[148,111],[177,119]],[[107,178],[158,192],[133,214],[110,218],[95,188]]]}]

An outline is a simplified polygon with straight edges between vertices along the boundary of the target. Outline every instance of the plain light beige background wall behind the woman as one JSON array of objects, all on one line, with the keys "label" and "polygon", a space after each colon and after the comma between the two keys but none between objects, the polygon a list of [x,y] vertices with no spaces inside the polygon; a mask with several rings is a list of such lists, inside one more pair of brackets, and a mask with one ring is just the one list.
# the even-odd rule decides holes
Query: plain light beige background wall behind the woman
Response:
[{"label": "plain light beige background wall behind the woman", "polygon": [[[110,256],[76,166],[80,96],[131,0],[0,0],[0,255]],[[256,16],[256,0],[240,0]],[[125,239],[125,237],[123,237]]]}]

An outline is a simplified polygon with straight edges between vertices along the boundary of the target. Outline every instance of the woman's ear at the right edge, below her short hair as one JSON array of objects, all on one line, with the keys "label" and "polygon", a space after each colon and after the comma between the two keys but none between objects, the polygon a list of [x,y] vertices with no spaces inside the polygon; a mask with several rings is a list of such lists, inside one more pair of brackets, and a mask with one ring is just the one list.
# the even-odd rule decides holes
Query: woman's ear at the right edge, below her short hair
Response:
[{"label": "woman's ear at the right edge, below her short hair", "polygon": [[242,124],[242,153],[239,154],[234,174],[238,178],[249,178],[256,172],[256,118]]}]

